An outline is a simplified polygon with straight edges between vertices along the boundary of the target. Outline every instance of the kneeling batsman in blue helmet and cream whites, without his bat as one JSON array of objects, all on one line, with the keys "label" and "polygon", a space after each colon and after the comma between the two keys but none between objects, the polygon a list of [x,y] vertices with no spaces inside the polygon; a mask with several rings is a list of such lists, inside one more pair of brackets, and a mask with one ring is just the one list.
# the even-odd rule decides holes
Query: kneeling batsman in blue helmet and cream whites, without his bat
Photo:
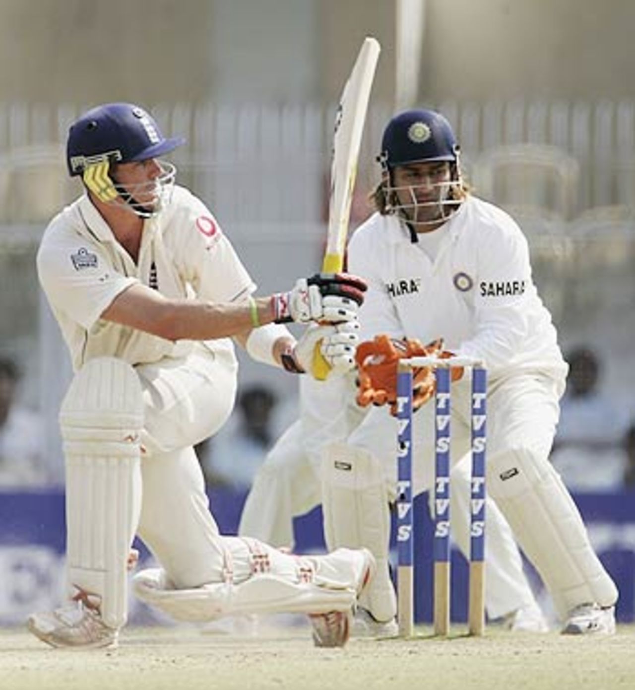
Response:
[{"label": "kneeling batsman in blue helmet and cream whites, without his bat", "polygon": [[[179,620],[305,612],[318,646],[341,646],[372,555],[301,558],[219,535],[192,446],[234,406],[230,338],[295,373],[321,342],[327,364],[347,371],[365,285],[317,275],[252,297],[216,219],[159,159],[181,144],[130,103],[70,128],[68,168],[85,194],[51,221],[37,267],[75,372],[60,413],[71,602],[28,624],[54,647],[116,644],[137,533],[161,564],[134,577],[145,602]],[[291,321],[309,324],[298,342],[281,325]]]}]

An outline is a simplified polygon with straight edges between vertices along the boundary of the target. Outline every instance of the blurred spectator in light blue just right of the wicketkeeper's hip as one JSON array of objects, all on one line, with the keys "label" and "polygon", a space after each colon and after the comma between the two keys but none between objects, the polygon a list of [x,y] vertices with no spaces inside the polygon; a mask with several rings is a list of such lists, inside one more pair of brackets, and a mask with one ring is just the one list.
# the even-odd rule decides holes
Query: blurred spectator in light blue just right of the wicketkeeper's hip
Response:
[{"label": "blurred spectator in light blue just right of the wicketkeeper's hip", "polygon": [[627,415],[601,391],[602,366],[587,346],[568,353],[567,392],[552,462],[572,491],[614,491],[623,486]]}]

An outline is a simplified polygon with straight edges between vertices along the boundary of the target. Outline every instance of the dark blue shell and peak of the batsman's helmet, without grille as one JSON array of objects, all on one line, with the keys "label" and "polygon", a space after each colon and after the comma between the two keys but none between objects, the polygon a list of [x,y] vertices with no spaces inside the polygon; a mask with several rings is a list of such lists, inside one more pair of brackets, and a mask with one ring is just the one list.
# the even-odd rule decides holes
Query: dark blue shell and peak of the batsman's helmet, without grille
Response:
[{"label": "dark blue shell and peak of the batsman's helmet, without grille", "polygon": [[71,176],[101,161],[129,163],[157,158],[185,144],[166,139],[152,115],[133,103],[105,103],[88,110],[71,126],[66,163]]}]

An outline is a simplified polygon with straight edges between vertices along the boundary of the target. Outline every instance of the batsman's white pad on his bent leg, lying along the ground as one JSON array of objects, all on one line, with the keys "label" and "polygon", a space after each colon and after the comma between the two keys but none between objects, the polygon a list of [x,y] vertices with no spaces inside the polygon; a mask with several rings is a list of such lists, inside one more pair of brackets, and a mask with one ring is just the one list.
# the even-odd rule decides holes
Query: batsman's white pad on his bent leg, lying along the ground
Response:
[{"label": "batsman's white pad on his bent leg, lying along the ground", "polygon": [[[165,571],[148,569],[134,576],[134,593],[175,620],[205,621],[241,613],[348,611],[371,565],[362,551],[338,549],[324,556],[295,557],[255,540],[254,545],[259,564],[265,557],[271,571],[252,573],[239,584],[227,580],[195,589],[175,589]],[[282,572],[275,573],[280,564]]]}]

